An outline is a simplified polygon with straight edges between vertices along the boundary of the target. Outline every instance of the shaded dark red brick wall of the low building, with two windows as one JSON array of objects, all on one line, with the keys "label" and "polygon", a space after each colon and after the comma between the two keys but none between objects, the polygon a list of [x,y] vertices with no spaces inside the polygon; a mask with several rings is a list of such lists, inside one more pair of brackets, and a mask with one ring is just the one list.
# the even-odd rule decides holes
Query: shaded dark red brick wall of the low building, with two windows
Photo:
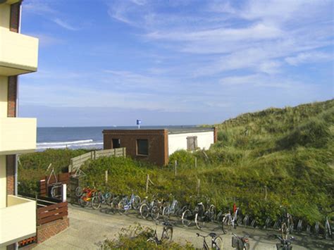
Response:
[{"label": "shaded dark red brick wall of the low building, with two windows", "polygon": [[[112,148],[112,139],[120,139],[120,146],[132,158],[156,165],[168,164],[168,130],[104,130],[104,149]],[[137,156],[137,139],[148,140],[148,156]]]}]

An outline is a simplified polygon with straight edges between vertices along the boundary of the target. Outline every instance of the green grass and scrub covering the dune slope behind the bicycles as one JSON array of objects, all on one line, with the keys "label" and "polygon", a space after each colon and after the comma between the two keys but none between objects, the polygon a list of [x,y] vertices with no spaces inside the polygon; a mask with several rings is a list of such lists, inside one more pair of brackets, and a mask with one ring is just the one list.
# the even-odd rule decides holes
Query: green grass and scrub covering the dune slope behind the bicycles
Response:
[{"label": "green grass and scrub covering the dune slope behind the bicycles", "polygon": [[[224,210],[235,201],[242,213],[260,224],[267,217],[275,220],[280,205],[311,224],[333,211],[333,100],[246,113],[216,127],[218,142],[211,149],[170,156],[171,163],[178,161],[176,176],[172,164],[157,167],[130,158],[99,158],[84,166],[87,185],[145,196],[149,174],[154,182],[149,195],[173,194],[180,201],[195,202],[200,180],[201,196]],[[29,157],[21,158],[23,165]],[[109,170],[107,185],[105,170]]]}]

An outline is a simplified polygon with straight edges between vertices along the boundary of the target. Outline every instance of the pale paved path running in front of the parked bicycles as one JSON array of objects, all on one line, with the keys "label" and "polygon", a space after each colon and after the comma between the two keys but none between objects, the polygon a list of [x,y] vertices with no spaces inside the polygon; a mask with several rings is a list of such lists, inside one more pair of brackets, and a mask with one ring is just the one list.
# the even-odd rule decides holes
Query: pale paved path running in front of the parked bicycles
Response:
[{"label": "pale paved path running in front of the parked bicycles", "polygon": [[[113,239],[122,227],[140,223],[140,225],[156,227],[151,220],[142,220],[135,213],[130,215],[112,215],[104,211],[93,211],[90,208],[80,208],[69,205],[70,227],[60,234],[39,244],[35,249],[99,249],[104,239]],[[218,225],[209,225],[202,234],[211,230],[221,233]],[[160,237],[162,227],[157,226]],[[194,246],[201,248],[202,239],[196,236],[200,232],[196,227],[185,228],[182,225],[175,225],[173,239],[180,243],[192,242]],[[268,232],[264,230],[245,229],[238,227],[235,230],[239,235],[250,235],[249,243],[251,249],[276,249],[277,240],[268,239]],[[269,232],[275,233],[275,232]],[[231,235],[223,235],[223,249],[232,249]],[[334,249],[333,242],[316,240],[311,237],[297,236],[293,243],[293,249]]]}]

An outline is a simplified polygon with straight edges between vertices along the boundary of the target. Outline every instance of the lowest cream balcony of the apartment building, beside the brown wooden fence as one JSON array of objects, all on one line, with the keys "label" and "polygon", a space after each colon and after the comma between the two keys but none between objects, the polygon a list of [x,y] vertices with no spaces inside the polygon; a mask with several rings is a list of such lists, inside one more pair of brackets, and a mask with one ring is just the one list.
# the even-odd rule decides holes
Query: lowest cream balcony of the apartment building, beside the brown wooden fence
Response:
[{"label": "lowest cream balcony of the apartment building, beside the brown wooden fence", "polygon": [[36,235],[36,201],[8,195],[0,208],[0,247]]}]

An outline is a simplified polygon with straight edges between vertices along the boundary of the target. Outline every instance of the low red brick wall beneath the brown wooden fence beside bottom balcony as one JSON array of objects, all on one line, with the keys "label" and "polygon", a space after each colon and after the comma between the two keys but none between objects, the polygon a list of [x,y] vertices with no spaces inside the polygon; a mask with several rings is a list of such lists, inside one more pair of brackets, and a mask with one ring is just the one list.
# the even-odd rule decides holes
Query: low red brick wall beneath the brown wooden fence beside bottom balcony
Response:
[{"label": "low red brick wall beneath the brown wooden fence beside bottom balcony", "polygon": [[37,244],[46,241],[63,230],[66,230],[69,226],[70,220],[67,216],[59,220],[54,220],[51,223],[37,226]]}]

